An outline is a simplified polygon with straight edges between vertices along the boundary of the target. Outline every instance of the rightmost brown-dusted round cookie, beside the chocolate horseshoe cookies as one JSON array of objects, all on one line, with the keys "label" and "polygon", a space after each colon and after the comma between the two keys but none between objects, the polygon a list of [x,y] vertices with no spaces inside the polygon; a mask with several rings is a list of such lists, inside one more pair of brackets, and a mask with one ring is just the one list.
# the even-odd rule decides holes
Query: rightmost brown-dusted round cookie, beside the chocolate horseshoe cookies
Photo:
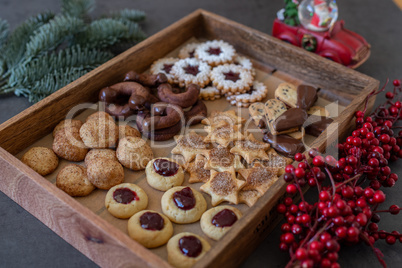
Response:
[{"label": "rightmost brown-dusted round cookie, beside the chocolate horseshoe cookies", "polygon": [[119,141],[116,150],[117,159],[126,168],[143,170],[154,158],[151,147],[138,137],[125,137]]}]

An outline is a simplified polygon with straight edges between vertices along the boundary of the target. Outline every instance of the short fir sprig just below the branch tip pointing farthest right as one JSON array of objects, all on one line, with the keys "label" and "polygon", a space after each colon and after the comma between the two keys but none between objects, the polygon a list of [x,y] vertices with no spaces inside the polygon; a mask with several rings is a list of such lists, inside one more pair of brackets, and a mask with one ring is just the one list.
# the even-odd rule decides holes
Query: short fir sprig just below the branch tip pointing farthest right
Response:
[{"label": "short fir sprig just below the branch tip pointing farthest right", "polygon": [[108,48],[126,38],[128,31],[128,27],[119,20],[99,19],[92,22],[75,42],[81,45],[88,44],[93,48]]}]

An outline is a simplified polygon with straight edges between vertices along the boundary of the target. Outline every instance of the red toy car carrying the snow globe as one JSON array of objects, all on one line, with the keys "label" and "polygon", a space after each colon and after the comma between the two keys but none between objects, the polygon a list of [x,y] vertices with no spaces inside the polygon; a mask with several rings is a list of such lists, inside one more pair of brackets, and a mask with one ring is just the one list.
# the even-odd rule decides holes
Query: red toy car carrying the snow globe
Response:
[{"label": "red toy car carrying the snow globe", "polygon": [[335,22],[328,31],[315,32],[275,19],[272,35],[353,69],[370,56],[370,44],[362,36],[345,29],[343,21]]}]

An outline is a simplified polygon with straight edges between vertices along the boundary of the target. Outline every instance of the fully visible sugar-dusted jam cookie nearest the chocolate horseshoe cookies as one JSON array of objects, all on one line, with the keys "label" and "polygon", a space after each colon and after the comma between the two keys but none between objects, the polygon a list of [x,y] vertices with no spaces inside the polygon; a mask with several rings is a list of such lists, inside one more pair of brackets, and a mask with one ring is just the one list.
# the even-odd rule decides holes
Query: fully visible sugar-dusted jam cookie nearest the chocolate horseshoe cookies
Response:
[{"label": "fully visible sugar-dusted jam cookie nearest the chocolate horseshoe cookies", "polygon": [[179,86],[197,84],[201,88],[209,84],[211,67],[203,61],[195,58],[182,59],[176,62],[171,70]]}]

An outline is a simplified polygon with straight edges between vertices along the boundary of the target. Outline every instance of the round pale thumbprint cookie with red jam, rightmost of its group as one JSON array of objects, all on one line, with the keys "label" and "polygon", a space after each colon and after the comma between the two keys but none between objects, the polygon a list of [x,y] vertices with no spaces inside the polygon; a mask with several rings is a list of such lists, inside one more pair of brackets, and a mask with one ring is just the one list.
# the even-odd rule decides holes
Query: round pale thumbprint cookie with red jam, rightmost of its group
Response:
[{"label": "round pale thumbprint cookie with red jam, rightmost of its group", "polygon": [[209,238],[219,240],[241,217],[242,213],[235,207],[214,207],[202,214],[201,229]]}]

